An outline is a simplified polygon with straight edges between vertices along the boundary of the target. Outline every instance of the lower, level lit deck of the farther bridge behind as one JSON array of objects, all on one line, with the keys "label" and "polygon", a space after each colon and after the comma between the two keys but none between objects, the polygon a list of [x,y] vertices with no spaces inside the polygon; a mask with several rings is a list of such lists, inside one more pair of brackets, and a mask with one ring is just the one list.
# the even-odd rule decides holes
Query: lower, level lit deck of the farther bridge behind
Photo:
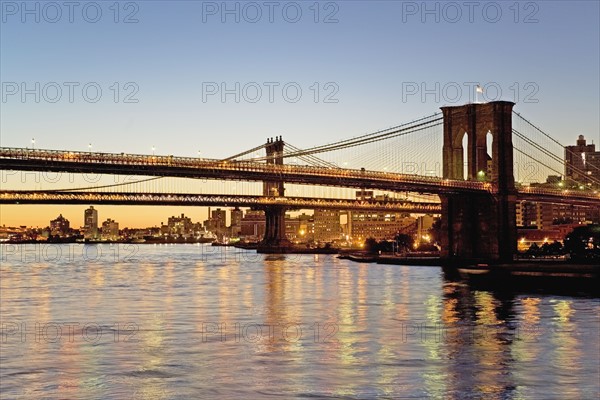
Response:
[{"label": "lower, level lit deck of the farther bridge behind", "polygon": [[283,206],[287,209],[337,209],[439,214],[439,203],[389,199],[347,200],[311,197],[270,197],[224,194],[161,194],[68,191],[2,191],[0,204],[115,204],[252,207]]}]

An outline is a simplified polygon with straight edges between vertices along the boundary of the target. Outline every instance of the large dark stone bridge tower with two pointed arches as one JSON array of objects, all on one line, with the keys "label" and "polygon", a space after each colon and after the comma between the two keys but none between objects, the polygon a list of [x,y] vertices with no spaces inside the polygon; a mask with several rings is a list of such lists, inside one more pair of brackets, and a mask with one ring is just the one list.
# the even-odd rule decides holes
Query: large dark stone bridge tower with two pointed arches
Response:
[{"label": "large dark stone bridge tower with two pointed arches", "polygon": [[[492,189],[490,193],[440,196],[443,258],[510,262],[516,253],[514,104],[493,101],[441,108],[444,116],[443,177],[464,180],[466,165],[467,180],[485,180]],[[487,154],[488,133],[492,135],[491,157]]]}]

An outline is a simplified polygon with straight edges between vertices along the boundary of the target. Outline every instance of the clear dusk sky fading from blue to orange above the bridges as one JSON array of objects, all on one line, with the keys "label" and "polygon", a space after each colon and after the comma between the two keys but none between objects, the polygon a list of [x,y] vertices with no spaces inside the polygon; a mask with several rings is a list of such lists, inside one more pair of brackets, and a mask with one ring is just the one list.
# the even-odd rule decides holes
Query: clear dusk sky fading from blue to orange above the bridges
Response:
[{"label": "clear dusk sky fading from blue to orange above the bridges", "polygon": [[[473,82],[564,144],[600,144],[598,1],[53,4],[1,2],[2,146],[220,158],[283,135],[309,147],[473,101]],[[79,226],[84,208],[2,206],[0,225],[68,210]],[[122,226],[206,216],[98,208]]]}]

